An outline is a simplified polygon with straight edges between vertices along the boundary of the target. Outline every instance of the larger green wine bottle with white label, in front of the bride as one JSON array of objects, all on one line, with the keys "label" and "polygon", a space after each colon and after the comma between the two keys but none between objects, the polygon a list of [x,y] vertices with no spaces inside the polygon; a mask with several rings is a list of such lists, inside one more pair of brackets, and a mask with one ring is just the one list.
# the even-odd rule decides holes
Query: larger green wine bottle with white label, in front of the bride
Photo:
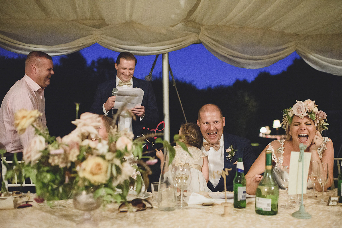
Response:
[{"label": "larger green wine bottle with white label, in front of the bride", "polygon": [[278,213],[278,185],[272,176],[272,151],[266,151],[266,167],[264,177],[255,193],[255,212],[261,215]]}]

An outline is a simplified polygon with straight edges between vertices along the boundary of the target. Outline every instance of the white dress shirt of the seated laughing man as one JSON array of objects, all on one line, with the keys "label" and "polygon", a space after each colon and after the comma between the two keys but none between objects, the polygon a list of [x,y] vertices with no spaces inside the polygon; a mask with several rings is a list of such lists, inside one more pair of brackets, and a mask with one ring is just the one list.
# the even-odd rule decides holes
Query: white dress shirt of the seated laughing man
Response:
[{"label": "white dress shirt of the seated laughing man", "polygon": [[[203,142],[207,142],[204,138],[203,138]],[[213,172],[216,171],[222,171],[224,168],[224,144],[223,144],[223,133],[220,139],[220,148],[218,151],[215,151],[214,147],[210,147],[209,151],[206,151],[204,149],[204,147],[202,147],[202,151],[204,153],[206,153],[208,155],[208,165],[209,165],[209,181],[212,183],[212,185],[215,187],[221,178],[220,174],[215,173],[215,175],[213,175]],[[215,178],[214,178],[215,177]]]}]

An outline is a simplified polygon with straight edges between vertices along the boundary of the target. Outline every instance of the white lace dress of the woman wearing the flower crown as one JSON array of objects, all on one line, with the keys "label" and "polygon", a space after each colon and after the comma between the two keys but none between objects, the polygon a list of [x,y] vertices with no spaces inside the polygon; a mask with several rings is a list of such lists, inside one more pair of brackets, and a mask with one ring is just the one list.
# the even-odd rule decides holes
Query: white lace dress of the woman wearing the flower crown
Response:
[{"label": "white lace dress of the woman wearing the flower crown", "polygon": [[[276,143],[276,141],[278,143]],[[282,154],[284,154],[284,139],[281,140],[276,140],[270,142],[267,146],[266,149],[269,149],[272,151],[272,160],[275,162],[275,167],[280,168],[282,166],[283,158]],[[331,140],[328,137],[323,137],[323,143],[320,145],[320,147],[317,149],[317,153],[319,158],[322,158],[322,154],[324,150],[327,148],[327,142],[331,142]],[[276,148],[273,148],[276,147]],[[275,152],[276,151],[276,152]],[[312,181],[309,179],[306,187],[308,189],[313,187]]]}]

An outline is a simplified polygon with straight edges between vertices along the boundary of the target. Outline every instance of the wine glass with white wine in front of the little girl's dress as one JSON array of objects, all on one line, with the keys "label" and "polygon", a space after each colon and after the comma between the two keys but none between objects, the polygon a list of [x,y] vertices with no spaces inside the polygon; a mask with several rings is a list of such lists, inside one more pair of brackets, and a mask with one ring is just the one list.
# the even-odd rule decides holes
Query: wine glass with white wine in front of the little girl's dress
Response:
[{"label": "wine glass with white wine in front of the little girl's dress", "polygon": [[181,164],[174,167],[173,178],[175,180],[175,185],[181,190],[181,204],[180,209],[185,209],[184,195],[182,192],[189,186],[191,182],[190,168],[187,164]]}]

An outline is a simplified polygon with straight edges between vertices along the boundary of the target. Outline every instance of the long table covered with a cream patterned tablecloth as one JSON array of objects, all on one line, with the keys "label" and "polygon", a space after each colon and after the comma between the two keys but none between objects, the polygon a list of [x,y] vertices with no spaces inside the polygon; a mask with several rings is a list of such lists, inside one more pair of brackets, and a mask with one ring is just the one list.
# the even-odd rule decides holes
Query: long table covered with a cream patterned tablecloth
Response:
[{"label": "long table covered with a cream patterned tablecloth", "polygon": [[[202,193],[205,195],[205,193]],[[342,204],[327,206],[319,204],[320,194],[317,199],[309,199],[312,190],[304,194],[305,210],[312,215],[311,219],[297,219],[291,216],[298,211],[299,205],[294,209],[279,208],[278,214],[274,216],[258,215],[254,211],[254,202],[247,204],[245,209],[235,209],[233,204],[229,207],[231,216],[222,217],[223,206],[214,205],[203,208],[190,208],[186,210],[175,210],[171,212],[159,211],[157,208],[147,209],[135,213],[118,212],[118,204],[112,203],[94,211],[93,218],[101,228],[109,227],[162,227],[162,228],[202,228],[202,227],[317,227],[337,228],[342,227]],[[325,200],[329,196],[336,196],[337,189],[328,190]],[[286,191],[279,190],[279,205],[285,204]],[[69,228],[77,227],[82,219],[83,212],[74,208],[72,200],[63,200],[63,209],[49,208],[45,203],[23,209],[0,210],[0,226],[6,228]]]}]

